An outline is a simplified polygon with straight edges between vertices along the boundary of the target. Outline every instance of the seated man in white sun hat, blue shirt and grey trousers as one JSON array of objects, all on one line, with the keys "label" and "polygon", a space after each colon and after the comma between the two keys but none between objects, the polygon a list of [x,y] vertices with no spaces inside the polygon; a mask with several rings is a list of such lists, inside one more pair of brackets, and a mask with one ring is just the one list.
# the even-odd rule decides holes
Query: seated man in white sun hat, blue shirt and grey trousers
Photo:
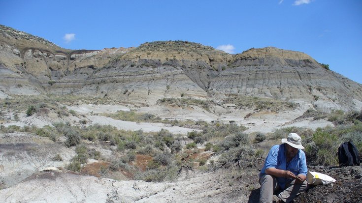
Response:
[{"label": "seated man in white sun hat, blue shirt and grey trousers", "polygon": [[289,203],[307,189],[307,163],[299,150],[304,148],[301,138],[291,133],[282,143],[271,147],[259,174],[260,203]]}]

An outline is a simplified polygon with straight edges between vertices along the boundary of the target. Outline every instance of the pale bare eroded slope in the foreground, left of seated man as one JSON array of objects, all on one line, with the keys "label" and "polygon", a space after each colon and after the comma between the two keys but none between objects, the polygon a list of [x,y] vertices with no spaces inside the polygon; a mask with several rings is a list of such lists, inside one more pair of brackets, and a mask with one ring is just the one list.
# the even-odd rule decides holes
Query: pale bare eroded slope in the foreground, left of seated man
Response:
[{"label": "pale bare eroded slope in the foreground, left of seated man", "polygon": [[[249,182],[258,184],[255,172],[239,180],[223,171],[200,173],[180,170],[175,182],[118,181],[71,173],[35,173],[21,183],[0,190],[0,201],[95,203],[219,203],[248,202]],[[229,178],[226,178],[228,176]],[[231,178],[232,176],[232,178]],[[247,184],[247,186],[245,186]],[[187,198],[186,198],[187,197]]]}]

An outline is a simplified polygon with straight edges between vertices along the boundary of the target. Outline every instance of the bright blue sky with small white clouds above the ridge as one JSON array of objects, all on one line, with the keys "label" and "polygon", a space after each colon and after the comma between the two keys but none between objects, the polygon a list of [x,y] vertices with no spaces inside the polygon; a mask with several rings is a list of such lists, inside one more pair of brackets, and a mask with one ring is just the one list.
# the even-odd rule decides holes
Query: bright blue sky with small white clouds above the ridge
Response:
[{"label": "bright blue sky with small white clouds above the ridge", "polygon": [[0,24],[68,49],[187,40],[304,52],[362,84],[362,0],[0,0]]}]

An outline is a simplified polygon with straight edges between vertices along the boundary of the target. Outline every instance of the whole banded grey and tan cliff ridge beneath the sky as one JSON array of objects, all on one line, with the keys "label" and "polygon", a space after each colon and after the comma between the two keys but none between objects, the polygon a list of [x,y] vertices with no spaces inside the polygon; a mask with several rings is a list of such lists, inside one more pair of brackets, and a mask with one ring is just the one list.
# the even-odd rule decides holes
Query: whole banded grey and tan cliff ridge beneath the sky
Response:
[{"label": "whole banded grey and tan cliff ridge beneath the sky", "polygon": [[230,55],[187,41],[66,50],[0,27],[0,97],[80,94],[152,105],[165,97],[256,96],[329,112],[362,107],[362,86],[308,55],[273,47]]}]

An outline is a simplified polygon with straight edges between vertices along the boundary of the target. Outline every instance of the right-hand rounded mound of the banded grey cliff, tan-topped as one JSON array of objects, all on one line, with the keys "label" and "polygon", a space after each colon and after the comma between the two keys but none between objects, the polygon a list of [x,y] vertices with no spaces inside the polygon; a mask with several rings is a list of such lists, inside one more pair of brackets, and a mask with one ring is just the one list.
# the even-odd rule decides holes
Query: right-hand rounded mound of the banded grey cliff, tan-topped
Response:
[{"label": "right-hand rounded mound of the banded grey cliff, tan-topped", "polygon": [[269,97],[297,103],[303,100],[324,112],[360,108],[361,87],[322,68],[303,53],[272,47],[236,55],[230,68],[210,83],[210,90],[227,96]]}]

